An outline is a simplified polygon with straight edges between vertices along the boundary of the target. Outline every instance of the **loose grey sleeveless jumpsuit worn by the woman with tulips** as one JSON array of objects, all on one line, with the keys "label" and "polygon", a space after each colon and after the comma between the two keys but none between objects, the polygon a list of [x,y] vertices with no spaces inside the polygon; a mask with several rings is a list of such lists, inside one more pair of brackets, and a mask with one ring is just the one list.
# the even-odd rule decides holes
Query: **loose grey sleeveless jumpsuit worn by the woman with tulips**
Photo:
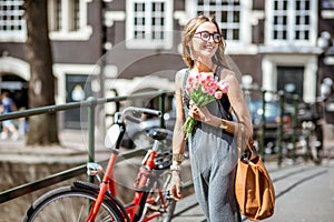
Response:
[{"label": "loose grey sleeveless jumpsuit worn by the woman with tulips", "polygon": [[[218,67],[216,73],[220,73]],[[186,70],[184,89],[188,78]],[[215,79],[218,74],[215,73]],[[184,90],[184,109],[188,113],[189,97]],[[232,120],[229,101],[225,95],[206,107],[212,114]],[[239,222],[234,182],[238,150],[234,137],[219,128],[198,122],[188,138],[194,188],[199,205],[210,222]]]}]

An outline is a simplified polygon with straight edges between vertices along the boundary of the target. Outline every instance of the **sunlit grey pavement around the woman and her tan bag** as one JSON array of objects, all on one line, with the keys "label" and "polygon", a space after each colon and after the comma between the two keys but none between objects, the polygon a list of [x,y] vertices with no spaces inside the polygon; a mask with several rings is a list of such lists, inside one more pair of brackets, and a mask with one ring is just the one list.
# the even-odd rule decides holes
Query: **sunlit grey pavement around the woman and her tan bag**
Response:
[{"label": "sunlit grey pavement around the woman and her tan bag", "polygon": [[[266,163],[275,186],[275,213],[265,222],[334,221],[334,160],[323,165]],[[205,221],[194,195],[177,205],[175,222]],[[243,221],[249,221],[244,219]]]}]

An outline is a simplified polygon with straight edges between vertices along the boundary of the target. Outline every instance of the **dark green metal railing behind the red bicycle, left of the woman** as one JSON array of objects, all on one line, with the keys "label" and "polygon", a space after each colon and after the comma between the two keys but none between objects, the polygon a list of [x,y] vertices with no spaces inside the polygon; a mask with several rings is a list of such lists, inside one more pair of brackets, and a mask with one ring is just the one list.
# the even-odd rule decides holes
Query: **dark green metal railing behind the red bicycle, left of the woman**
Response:
[{"label": "dark green metal railing behind the red bicycle, left of the woman", "polygon": [[[136,100],[143,98],[156,98],[159,97],[159,110],[161,111],[161,127],[164,127],[164,113],[165,113],[165,99],[167,95],[173,95],[173,91],[150,91],[150,92],[143,92],[136,93],[132,95],[124,95],[124,97],[115,97],[115,98],[88,98],[86,101],[82,102],[71,102],[67,104],[58,104],[58,105],[49,105],[42,108],[36,108],[24,111],[16,111],[7,114],[0,115],[0,122],[3,120],[10,119],[18,119],[18,118],[27,118],[31,115],[45,114],[45,113],[55,113],[58,111],[71,110],[71,109],[79,109],[79,108],[87,108],[88,109],[88,162],[94,161],[95,159],[95,114],[96,114],[96,107],[99,104],[105,104],[108,102],[116,102],[119,103],[120,101],[125,100]],[[117,105],[119,107],[119,105]],[[126,160],[132,157],[137,157],[141,154],[143,151],[135,150],[125,152],[121,154],[119,160]],[[106,160],[107,162],[108,160]],[[104,164],[104,162],[102,162]],[[0,193],[0,203],[13,200],[16,198],[26,195],[33,191],[40,190],[42,188],[47,188],[55,183],[78,176],[86,173],[86,164],[49,175],[45,179],[33,181],[27,184],[19,185],[17,188],[12,188],[10,190],[3,191]],[[89,181],[92,181],[92,176],[89,176]]]}]

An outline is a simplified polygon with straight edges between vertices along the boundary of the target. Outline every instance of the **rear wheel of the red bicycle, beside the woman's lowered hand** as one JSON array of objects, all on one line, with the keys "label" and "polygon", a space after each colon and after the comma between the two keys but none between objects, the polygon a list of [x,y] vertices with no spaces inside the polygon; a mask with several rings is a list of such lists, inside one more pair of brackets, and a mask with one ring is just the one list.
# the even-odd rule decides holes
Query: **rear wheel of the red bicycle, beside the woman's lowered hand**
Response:
[{"label": "rear wheel of the red bicycle, beside the woman's lowered hand", "polygon": [[[173,216],[174,216],[174,211],[175,211],[175,206],[176,206],[176,201],[173,200],[169,194],[168,194],[168,185],[171,181],[171,173],[170,171],[164,171],[161,173],[161,175],[159,176],[159,184],[160,188],[163,189],[163,192],[164,192],[164,200],[166,201],[167,203],[167,209],[164,213],[161,213],[160,216],[156,218],[155,222],[170,222]],[[160,204],[163,205],[163,202],[161,202],[161,199],[160,196],[158,195],[158,192],[156,192],[156,190],[153,191],[155,196],[156,196],[156,203],[157,204]]]}]

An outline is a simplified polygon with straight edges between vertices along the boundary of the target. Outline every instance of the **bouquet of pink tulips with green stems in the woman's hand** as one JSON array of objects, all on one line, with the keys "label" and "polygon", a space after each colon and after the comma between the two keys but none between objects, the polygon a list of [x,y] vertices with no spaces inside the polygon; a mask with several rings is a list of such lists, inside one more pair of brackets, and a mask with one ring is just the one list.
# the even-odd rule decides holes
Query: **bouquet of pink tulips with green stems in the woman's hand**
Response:
[{"label": "bouquet of pink tulips with green stems in the woman's hand", "polygon": [[[193,102],[202,108],[227,93],[228,84],[223,80],[215,81],[212,72],[200,72],[195,77],[188,78],[186,90]],[[196,122],[191,117],[187,118],[184,124],[186,139],[191,135]]]}]

